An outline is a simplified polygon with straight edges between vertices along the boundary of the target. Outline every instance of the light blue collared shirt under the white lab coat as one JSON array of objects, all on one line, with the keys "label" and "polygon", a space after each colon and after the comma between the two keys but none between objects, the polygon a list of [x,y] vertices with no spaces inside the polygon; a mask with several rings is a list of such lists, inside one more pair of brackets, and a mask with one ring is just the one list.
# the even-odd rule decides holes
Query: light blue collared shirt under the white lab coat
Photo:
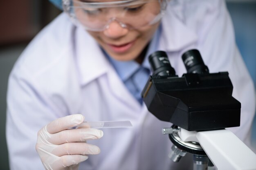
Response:
[{"label": "light blue collared shirt under the white lab coat", "polygon": [[155,32],[153,39],[151,40],[144,61],[140,65],[134,60],[131,61],[117,61],[112,59],[105,53],[106,57],[112,63],[113,67],[117,71],[117,74],[126,85],[130,93],[142,104],[141,92],[148,81],[150,75],[150,64],[148,57],[150,54],[157,50],[159,44],[159,36],[161,34],[162,26]]}]

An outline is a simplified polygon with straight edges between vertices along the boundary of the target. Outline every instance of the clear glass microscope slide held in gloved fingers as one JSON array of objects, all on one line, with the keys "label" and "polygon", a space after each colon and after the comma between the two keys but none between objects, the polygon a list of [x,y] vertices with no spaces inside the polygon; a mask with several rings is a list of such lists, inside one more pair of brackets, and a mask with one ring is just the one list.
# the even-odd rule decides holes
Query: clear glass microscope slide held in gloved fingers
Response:
[{"label": "clear glass microscope slide held in gloved fingers", "polygon": [[98,121],[98,122],[83,122],[77,128],[125,128],[132,127],[129,120],[125,121]]}]

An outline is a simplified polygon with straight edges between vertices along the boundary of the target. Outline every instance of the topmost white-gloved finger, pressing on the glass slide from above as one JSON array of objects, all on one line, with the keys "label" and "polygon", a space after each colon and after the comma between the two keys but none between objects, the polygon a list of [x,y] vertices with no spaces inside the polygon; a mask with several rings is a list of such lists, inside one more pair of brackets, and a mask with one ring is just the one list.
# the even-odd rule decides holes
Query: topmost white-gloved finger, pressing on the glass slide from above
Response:
[{"label": "topmost white-gloved finger, pressing on the glass slide from above", "polygon": [[49,124],[47,124],[47,131],[51,134],[70,129],[74,126],[81,124],[84,120],[84,116],[81,114],[74,114],[58,118]]}]

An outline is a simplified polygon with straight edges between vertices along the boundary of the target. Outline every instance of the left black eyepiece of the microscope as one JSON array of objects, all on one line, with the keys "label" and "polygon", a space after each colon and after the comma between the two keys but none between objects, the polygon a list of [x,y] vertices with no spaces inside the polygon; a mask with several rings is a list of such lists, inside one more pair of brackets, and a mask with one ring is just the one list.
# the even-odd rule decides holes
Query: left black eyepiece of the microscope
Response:
[{"label": "left black eyepiece of the microscope", "polygon": [[153,70],[153,75],[158,76],[173,76],[175,70],[171,67],[167,54],[164,51],[153,52],[149,58],[149,63]]}]

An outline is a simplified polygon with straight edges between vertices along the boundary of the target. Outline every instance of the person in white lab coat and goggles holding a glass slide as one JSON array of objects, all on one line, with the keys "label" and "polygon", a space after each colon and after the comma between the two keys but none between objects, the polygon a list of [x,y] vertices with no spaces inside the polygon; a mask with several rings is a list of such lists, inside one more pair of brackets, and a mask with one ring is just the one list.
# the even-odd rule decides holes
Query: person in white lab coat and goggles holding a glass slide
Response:
[{"label": "person in white lab coat and goggles holding a glass slide", "polygon": [[[9,77],[11,170],[191,169],[190,159],[168,158],[172,144],[161,129],[171,123],[149,113],[140,96],[156,50],[167,52],[179,76],[182,53],[192,48],[210,72],[229,72],[242,103],[240,127],[230,130],[249,146],[254,87],[224,0],[63,0],[61,8]],[[73,128],[108,120],[133,127]]]}]

